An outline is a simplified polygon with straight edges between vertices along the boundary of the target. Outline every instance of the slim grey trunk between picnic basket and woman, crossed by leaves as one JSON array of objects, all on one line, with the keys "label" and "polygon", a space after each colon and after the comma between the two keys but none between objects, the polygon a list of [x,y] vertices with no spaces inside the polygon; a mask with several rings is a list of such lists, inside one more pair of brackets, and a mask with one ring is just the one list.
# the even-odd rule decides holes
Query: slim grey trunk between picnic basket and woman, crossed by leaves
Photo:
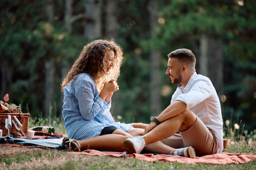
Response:
[{"label": "slim grey trunk between picnic basket and woman, crossed by leaves", "polygon": [[[46,4],[46,15],[49,23],[53,23],[53,0],[48,0]],[[50,56],[45,62],[46,69],[46,81],[45,81],[45,115],[46,118],[51,116],[50,113],[53,113],[53,104],[54,104],[54,59],[53,56]]]}]

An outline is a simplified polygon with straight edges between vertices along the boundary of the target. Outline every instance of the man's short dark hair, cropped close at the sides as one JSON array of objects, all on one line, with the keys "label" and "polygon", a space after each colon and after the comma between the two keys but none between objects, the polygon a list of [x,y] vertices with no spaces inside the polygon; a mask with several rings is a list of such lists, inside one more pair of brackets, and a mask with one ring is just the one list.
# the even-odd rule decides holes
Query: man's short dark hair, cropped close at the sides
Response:
[{"label": "man's short dark hair, cropped close at the sides", "polygon": [[195,67],[196,65],[196,56],[191,50],[186,48],[181,48],[174,50],[167,55],[169,58],[177,58],[178,60]]}]

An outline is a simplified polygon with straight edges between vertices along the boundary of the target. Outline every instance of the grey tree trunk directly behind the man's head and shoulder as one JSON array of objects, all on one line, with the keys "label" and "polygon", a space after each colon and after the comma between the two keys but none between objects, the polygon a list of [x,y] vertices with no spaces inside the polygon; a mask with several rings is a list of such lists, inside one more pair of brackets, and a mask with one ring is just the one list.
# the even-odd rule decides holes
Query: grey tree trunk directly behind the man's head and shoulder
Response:
[{"label": "grey tree trunk directly behind the man's head and shoulder", "polygon": [[209,77],[218,96],[223,94],[223,59],[222,59],[222,42],[220,38],[202,35],[201,36],[201,56],[200,73]]}]

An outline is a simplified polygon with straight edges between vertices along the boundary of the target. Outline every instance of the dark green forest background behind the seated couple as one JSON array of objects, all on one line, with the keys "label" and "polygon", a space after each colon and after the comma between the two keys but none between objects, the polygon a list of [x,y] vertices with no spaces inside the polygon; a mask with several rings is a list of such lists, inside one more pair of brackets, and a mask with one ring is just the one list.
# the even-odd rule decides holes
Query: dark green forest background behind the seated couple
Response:
[{"label": "dark green forest background behind the seated couple", "polygon": [[1,0],[0,98],[32,118],[63,121],[60,84],[82,47],[114,39],[123,49],[112,115],[149,123],[176,85],[167,54],[191,49],[196,70],[213,81],[223,121],[256,128],[256,1]]}]

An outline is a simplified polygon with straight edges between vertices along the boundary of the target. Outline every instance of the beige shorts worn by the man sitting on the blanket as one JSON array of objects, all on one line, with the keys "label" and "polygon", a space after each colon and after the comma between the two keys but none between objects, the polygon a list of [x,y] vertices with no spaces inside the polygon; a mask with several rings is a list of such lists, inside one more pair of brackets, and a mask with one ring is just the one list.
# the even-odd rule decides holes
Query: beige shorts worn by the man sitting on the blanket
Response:
[{"label": "beige shorts worn by the man sitting on the blanket", "polygon": [[199,157],[206,154],[215,154],[218,151],[218,142],[213,130],[206,128],[206,125],[198,117],[196,123],[188,130],[177,132],[161,141],[174,148],[195,147],[196,155]]}]

